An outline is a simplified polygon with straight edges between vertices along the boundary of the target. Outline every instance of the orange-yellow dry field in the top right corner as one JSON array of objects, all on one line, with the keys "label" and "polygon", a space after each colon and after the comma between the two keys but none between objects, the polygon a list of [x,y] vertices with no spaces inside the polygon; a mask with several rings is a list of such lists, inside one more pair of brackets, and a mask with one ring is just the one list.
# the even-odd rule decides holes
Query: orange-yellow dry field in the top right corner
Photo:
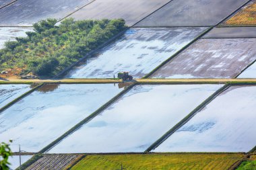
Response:
[{"label": "orange-yellow dry field in the top right corner", "polygon": [[228,25],[255,25],[256,3],[252,3],[226,21]]}]

